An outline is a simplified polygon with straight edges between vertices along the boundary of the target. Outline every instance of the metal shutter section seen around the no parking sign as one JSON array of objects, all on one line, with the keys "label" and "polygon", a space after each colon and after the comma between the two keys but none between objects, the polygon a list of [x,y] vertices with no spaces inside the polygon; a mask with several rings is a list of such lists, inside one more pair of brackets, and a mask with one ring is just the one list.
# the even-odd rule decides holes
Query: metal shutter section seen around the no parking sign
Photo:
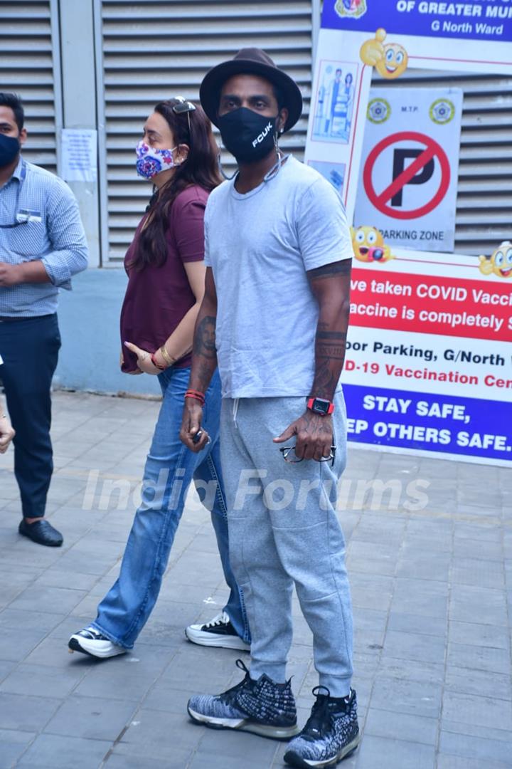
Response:
[{"label": "metal shutter section seen around the no parking sign", "polygon": [[512,79],[411,69],[400,82],[376,75],[372,85],[462,88],[455,252],[491,255],[512,239]]}]

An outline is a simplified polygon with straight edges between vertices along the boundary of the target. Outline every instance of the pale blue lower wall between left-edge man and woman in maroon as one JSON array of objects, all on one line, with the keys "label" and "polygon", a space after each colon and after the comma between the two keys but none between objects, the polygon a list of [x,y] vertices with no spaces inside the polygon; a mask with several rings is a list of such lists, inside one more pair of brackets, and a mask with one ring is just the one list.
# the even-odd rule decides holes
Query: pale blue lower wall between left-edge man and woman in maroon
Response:
[{"label": "pale blue lower wall between left-edge man and woman in maroon", "polygon": [[122,268],[90,268],[74,278],[73,291],[61,291],[58,318],[62,348],[55,387],[160,394],[156,377],[130,376],[119,370],[119,315],[126,284]]}]

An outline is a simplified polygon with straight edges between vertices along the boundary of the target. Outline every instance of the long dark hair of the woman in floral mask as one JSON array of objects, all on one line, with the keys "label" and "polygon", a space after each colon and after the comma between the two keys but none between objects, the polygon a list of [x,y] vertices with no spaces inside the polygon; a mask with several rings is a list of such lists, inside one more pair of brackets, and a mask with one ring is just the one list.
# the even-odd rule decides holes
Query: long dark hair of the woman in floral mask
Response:
[{"label": "long dark hair of the woman in floral mask", "polygon": [[130,262],[130,268],[136,270],[143,270],[147,265],[164,265],[167,259],[166,233],[170,208],[177,195],[190,185],[199,185],[210,192],[222,181],[217,162],[218,148],[210,120],[203,108],[196,105],[193,112],[178,114],[173,112],[173,106],[177,104],[180,104],[177,99],[170,98],[167,102],[159,102],[154,112],[167,120],[173,131],[174,144],[188,145],[189,153],[187,160],[176,167],[167,184],[151,198],[147,221],[140,231],[136,253]]}]

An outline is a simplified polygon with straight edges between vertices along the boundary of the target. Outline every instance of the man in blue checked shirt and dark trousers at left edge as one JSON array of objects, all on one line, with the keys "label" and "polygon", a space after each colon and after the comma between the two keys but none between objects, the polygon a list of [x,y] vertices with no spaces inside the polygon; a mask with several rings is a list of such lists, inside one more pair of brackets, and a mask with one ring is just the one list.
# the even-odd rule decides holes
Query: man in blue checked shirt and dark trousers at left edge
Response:
[{"label": "man in blue checked shirt and dark trousers at left edge", "polygon": [[16,431],[19,533],[58,547],[62,535],[45,520],[58,289],[70,289],[71,277],[87,267],[88,248],[68,185],[21,156],[23,123],[20,98],[0,93],[0,378]]}]

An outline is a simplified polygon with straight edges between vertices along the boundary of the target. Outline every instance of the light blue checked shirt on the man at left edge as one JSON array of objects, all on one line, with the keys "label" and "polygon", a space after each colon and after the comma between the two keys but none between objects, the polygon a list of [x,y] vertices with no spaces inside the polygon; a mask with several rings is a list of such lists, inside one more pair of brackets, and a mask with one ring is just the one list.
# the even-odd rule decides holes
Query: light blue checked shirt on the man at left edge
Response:
[{"label": "light blue checked shirt on the man at left edge", "polygon": [[[28,220],[28,221],[24,221]],[[88,246],[78,204],[57,176],[19,159],[0,188],[0,261],[9,265],[41,259],[49,283],[0,287],[0,316],[50,315],[57,310],[58,289],[71,289],[71,277],[88,265]]]}]

